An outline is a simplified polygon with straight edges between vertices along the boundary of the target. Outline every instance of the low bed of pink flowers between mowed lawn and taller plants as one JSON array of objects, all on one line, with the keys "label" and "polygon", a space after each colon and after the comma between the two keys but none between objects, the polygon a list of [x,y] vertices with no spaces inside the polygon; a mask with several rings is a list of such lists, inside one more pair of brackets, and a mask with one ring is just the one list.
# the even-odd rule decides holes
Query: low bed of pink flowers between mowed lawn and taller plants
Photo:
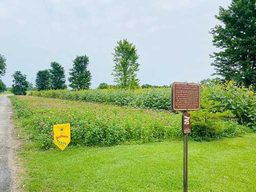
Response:
[{"label": "low bed of pink flowers between mowed lawn and taller plants", "polygon": [[[26,127],[30,139],[42,149],[54,146],[53,125],[62,123],[71,123],[70,145],[110,146],[182,137],[181,114],[177,113],[33,96],[10,96],[10,99],[20,126]],[[250,131],[232,120],[219,118],[210,122],[217,121],[221,123],[218,131],[212,131],[208,137],[232,137]],[[192,126],[192,132],[196,128]],[[198,139],[200,134],[190,137],[202,140]]]}]

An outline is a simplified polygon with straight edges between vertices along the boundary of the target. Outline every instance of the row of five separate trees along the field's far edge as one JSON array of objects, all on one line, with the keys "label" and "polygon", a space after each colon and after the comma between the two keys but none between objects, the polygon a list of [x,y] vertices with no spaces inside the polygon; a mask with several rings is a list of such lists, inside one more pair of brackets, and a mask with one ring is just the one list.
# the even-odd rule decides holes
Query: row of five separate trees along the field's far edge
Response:
[{"label": "row of five separate trees along the field's far edge", "polygon": [[[137,88],[139,71],[137,49],[135,45],[126,39],[117,41],[115,47],[113,69],[114,81],[119,88]],[[69,87],[73,90],[87,90],[91,86],[92,74],[88,69],[89,56],[76,56],[73,60],[73,67],[69,70]],[[12,92],[16,95],[25,95],[29,86],[26,75],[16,71],[13,75]],[[60,63],[54,61],[50,63],[50,69],[39,70],[36,73],[35,86],[37,90],[59,90],[67,89],[66,75]]]}]

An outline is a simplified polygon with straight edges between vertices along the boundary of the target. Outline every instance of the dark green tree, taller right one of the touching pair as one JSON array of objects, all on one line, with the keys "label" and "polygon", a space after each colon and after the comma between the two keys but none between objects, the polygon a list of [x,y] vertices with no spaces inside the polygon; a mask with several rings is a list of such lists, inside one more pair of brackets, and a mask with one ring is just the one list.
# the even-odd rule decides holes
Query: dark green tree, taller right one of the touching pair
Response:
[{"label": "dark green tree, taller right one of the touching pair", "polygon": [[50,72],[50,85],[51,89],[66,89],[67,86],[65,84],[65,70],[58,62],[51,62]]}]

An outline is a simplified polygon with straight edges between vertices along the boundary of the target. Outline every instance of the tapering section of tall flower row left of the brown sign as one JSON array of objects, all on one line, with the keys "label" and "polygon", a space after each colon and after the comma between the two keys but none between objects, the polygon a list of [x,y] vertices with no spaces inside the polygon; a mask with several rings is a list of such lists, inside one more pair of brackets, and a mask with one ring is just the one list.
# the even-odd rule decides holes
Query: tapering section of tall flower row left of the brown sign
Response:
[{"label": "tapering section of tall flower row left of the brown sign", "polygon": [[47,98],[82,100],[87,102],[114,104],[118,106],[170,110],[170,89],[106,89],[84,91],[49,90],[32,91],[29,95]]}]

